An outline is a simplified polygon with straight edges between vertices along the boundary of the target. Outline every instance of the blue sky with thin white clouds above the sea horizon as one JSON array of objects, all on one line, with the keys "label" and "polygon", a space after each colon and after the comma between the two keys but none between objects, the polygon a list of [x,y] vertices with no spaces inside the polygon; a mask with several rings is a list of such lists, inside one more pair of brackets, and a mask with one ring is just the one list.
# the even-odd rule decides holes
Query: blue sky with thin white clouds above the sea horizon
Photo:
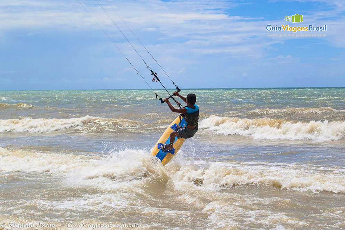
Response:
[{"label": "blue sky with thin white clouds above the sea horizon", "polygon": [[[168,88],[171,81],[112,8],[180,88],[345,87],[343,0],[108,1],[100,3]],[[80,2],[160,88],[97,2]],[[295,14],[303,22],[284,20]],[[268,24],[327,31],[267,31]],[[148,88],[78,0],[0,0],[0,81],[0,90]]]}]

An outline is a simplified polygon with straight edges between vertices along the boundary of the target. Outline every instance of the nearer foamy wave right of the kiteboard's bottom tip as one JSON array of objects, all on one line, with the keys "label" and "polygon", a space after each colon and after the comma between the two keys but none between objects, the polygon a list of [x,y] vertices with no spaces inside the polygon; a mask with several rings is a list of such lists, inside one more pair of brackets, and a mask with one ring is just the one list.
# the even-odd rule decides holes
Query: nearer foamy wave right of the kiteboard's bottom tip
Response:
[{"label": "nearer foamy wave right of the kiteboard's bottom tip", "polygon": [[208,190],[221,190],[238,185],[264,184],[294,191],[328,191],[345,193],[345,175],[320,172],[303,165],[274,164],[253,165],[245,163],[207,163],[200,167],[189,165],[172,176],[176,187],[185,189],[196,187]]}]

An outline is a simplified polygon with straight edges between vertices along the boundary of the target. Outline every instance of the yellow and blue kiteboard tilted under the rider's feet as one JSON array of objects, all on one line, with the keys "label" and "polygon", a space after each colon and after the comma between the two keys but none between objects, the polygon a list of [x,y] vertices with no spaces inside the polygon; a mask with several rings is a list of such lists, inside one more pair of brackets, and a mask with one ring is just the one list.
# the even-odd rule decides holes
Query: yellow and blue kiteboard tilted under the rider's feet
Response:
[{"label": "yellow and blue kiteboard tilted under the rider's feet", "polygon": [[170,133],[176,131],[178,126],[182,126],[182,127],[187,126],[187,123],[184,117],[178,116],[170,124],[170,126],[165,130],[165,132],[157,141],[155,147],[152,149],[151,154],[157,157],[162,162],[163,165],[166,165],[172,159],[172,157],[176,155],[178,150],[181,148],[181,146],[185,142],[184,138],[177,139],[177,137],[175,137],[174,144],[172,145],[173,148],[167,151],[163,151],[164,144],[170,143]]}]

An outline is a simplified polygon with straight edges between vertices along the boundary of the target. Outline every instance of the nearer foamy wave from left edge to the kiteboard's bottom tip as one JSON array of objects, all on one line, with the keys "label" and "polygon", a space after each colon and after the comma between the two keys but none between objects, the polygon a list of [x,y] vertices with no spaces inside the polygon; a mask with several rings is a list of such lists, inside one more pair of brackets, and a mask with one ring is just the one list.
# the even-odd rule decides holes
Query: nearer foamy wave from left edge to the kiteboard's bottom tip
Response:
[{"label": "nearer foamy wave from left edge to the kiteboard's bottom tip", "polygon": [[163,165],[140,149],[110,151],[101,157],[0,147],[0,157],[0,172],[47,173],[64,178],[67,186],[116,189],[130,187],[151,175],[166,177]]}]

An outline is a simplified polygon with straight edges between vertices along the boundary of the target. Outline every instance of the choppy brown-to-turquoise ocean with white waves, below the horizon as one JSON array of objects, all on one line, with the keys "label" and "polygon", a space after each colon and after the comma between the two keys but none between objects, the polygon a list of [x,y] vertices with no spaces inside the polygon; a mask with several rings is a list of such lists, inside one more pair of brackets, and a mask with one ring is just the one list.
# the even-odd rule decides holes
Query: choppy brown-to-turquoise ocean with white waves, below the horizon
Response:
[{"label": "choppy brown-to-turquoise ocean with white waves, below the horizon", "polygon": [[191,92],[199,131],[163,167],[177,114],[152,91],[0,91],[1,227],[345,229],[345,88]]}]

